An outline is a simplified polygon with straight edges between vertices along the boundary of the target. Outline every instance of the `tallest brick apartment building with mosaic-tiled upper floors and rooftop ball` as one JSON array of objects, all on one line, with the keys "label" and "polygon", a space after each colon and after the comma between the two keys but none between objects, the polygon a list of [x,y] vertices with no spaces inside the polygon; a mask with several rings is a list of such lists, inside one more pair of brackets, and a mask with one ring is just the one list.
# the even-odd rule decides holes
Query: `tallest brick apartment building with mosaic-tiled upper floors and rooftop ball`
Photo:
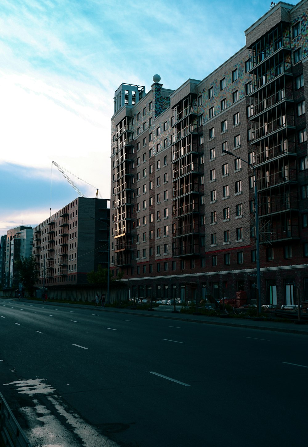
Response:
[{"label": "tallest brick apartment building with mosaic-tiled upper floors and rooftop ball", "polygon": [[255,299],[256,183],[262,304],[308,300],[308,1],[245,34],[201,81],[115,93],[110,264],[135,296]]}]

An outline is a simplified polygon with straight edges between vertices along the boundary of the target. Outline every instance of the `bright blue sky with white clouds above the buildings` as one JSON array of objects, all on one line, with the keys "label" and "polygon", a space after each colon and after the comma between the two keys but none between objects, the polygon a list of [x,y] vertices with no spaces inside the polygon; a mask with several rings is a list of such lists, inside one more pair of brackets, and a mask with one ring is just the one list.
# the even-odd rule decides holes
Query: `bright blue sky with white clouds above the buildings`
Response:
[{"label": "bright blue sky with white clouds above the buildings", "polygon": [[[291,2],[291,4],[296,2]],[[77,197],[110,197],[113,95],[204,79],[271,6],[252,0],[1,0],[0,235]],[[52,179],[52,181],[51,181]],[[51,198],[51,199],[50,199]]]}]

